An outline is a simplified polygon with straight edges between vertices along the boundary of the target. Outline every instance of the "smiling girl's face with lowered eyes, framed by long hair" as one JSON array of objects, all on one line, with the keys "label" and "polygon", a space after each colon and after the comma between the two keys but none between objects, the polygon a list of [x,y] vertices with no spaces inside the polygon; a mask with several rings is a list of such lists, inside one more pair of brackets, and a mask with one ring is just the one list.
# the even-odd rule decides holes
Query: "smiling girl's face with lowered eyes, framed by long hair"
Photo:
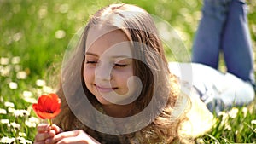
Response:
[{"label": "smiling girl's face with lowered eyes, framed by long hair", "polygon": [[131,44],[121,30],[91,27],[86,40],[84,83],[103,105],[131,103],[135,92]]}]

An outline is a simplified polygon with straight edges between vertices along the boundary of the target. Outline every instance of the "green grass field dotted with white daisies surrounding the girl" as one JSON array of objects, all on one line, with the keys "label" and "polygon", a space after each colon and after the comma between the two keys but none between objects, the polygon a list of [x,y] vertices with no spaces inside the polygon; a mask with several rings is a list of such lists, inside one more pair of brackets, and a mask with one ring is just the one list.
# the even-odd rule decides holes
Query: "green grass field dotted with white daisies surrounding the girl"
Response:
[{"label": "green grass field dotted with white daisies surrounding the girl", "polygon": [[[168,21],[190,51],[201,18],[201,0],[0,0],[0,143],[32,143],[39,123],[32,103],[38,95],[54,90],[58,78],[50,76],[60,72],[73,34],[90,14],[109,3],[137,4]],[[256,1],[248,3],[255,54]],[[166,55],[172,60],[167,50]],[[214,128],[196,141],[255,143],[255,104],[224,112]]]}]

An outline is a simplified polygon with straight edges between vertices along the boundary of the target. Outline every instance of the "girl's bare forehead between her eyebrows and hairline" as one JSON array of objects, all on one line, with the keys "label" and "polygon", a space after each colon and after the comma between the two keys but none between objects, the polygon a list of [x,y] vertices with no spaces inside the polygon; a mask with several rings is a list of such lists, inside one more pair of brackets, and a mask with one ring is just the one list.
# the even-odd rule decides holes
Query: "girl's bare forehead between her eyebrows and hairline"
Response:
[{"label": "girl's bare forehead between her eyebrows and hairline", "polygon": [[110,26],[93,26],[88,32],[85,51],[96,55],[125,54],[131,57],[131,41],[122,30]]}]

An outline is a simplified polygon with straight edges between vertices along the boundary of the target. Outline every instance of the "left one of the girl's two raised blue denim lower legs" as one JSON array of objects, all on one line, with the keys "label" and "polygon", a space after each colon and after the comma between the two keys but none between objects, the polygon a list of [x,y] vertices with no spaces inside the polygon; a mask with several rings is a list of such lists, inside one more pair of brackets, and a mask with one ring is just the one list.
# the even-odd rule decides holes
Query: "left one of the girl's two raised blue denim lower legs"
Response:
[{"label": "left one of the girl's two raised blue denim lower legs", "polygon": [[220,41],[229,3],[230,0],[204,0],[192,48],[192,62],[218,68]]}]

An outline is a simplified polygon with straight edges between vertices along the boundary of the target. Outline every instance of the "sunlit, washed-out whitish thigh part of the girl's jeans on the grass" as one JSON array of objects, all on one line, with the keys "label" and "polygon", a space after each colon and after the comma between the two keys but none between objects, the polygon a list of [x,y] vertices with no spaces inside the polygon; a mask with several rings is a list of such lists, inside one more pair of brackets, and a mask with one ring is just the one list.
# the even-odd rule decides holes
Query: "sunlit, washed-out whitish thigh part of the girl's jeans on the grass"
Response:
[{"label": "sunlit, washed-out whitish thigh part of the girl's jeans on the grass", "polygon": [[231,73],[222,73],[199,63],[169,63],[170,71],[179,78],[180,88],[191,98],[199,97],[211,112],[242,107],[254,99],[252,84]]}]

